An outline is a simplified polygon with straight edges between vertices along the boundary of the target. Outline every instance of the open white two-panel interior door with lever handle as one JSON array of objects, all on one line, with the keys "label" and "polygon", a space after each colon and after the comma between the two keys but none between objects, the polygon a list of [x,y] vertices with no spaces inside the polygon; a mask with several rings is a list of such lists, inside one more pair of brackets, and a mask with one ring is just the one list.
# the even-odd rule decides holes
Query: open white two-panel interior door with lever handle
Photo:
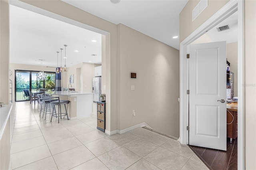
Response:
[{"label": "open white two-panel interior door with lever handle", "polygon": [[189,144],[226,150],[226,42],[190,45],[189,89]]}]

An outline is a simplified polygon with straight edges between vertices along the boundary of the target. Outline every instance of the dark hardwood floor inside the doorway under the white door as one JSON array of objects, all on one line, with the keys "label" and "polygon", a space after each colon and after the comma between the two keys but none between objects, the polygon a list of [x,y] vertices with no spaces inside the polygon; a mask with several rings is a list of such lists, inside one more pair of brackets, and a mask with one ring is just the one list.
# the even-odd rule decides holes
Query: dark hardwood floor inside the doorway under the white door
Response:
[{"label": "dark hardwood floor inside the doorway under the white door", "polygon": [[209,169],[237,170],[237,138],[227,142],[227,151],[189,146]]}]

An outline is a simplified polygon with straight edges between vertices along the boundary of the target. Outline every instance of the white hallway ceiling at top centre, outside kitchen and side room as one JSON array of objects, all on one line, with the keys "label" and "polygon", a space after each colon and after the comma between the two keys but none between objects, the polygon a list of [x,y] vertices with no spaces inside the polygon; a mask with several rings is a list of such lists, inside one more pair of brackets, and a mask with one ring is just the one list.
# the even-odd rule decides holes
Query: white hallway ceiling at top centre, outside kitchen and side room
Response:
[{"label": "white hallway ceiling at top centre, outside kitchen and side room", "polygon": [[114,24],[124,24],[179,49],[179,14],[188,0],[62,0]]}]

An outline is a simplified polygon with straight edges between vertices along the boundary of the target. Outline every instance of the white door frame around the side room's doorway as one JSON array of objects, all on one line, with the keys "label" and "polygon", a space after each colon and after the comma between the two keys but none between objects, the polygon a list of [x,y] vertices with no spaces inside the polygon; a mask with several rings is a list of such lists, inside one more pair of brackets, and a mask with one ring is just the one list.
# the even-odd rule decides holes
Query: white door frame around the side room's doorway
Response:
[{"label": "white door frame around the side room's doorway", "polygon": [[199,26],[180,43],[180,138],[181,144],[188,144],[188,45],[206,31],[238,11],[238,169],[244,169],[244,0],[230,0],[218,12]]}]

